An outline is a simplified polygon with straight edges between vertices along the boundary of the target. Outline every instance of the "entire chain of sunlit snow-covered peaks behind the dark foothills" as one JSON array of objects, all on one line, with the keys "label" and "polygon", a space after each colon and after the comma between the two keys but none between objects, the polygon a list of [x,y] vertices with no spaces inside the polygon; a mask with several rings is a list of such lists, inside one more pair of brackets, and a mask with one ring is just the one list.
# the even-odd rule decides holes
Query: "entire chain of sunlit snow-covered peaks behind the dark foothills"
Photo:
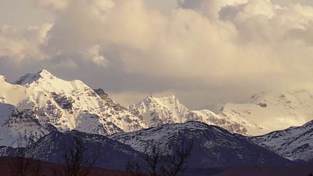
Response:
[{"label": "entire chain of sunlit snow-covered peaks behind the dark foothills", "polygon": [[200,121],[232,133],[262,135],[313,119],[310,90],[262,92],[245,104],[225,104],[218,114],[188,110],[174,95],[152,95],[128,108],[103,89],[79,80],[64,81],[46,70],[28,73],[13,84],[0,76],[0,146],[16,146],[19,133],[36,141],[52,131],[110,135],[164,124]]}]

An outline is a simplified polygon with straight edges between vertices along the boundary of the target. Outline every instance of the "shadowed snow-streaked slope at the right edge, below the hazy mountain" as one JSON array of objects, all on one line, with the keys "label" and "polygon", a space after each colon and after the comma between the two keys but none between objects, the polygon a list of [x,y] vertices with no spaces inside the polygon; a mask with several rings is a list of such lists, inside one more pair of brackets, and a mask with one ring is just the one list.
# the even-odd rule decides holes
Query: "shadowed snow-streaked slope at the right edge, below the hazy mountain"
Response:
[{"label": "shadowed snow-streaked slope at the right edge, below the hazy mountain", "polygon": [[300,127],[253,137],[275,153],[294,161],[313,161],[313,121]]}]

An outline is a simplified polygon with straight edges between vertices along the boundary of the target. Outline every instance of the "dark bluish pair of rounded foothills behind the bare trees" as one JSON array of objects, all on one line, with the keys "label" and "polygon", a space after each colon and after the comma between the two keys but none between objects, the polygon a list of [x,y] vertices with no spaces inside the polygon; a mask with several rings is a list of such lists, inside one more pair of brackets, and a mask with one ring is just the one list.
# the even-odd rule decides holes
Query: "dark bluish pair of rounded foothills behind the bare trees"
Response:
[{"label": "dark bluish pair of rounded foothills behind the bare trees", "polygon": [[[251,142],[248,137],[232,134],[220,127],[201,122],[168,124],[139,132],[117,133],[110,138],[84,132],[51,132],[28,148],[27,156],[53,163],[65,163],[63,146],[73,145],[75,136],[79,136],[92,154],[99,148],[101,156],[97,167],[124,170],[128,160],[140,158],[145,148],[153,140],[159,145],[162,155],[173,154],[174,150],[193,141],[193,151],[189,160],[190,168],[209,168],[239,164],[289,165],[285,159],[266,148]],[[64,143],[64,144],[63,144]],[[0,148],[2,156],[14,156],[11,147]],[[150,153],[151,151],[147,151]]]}]

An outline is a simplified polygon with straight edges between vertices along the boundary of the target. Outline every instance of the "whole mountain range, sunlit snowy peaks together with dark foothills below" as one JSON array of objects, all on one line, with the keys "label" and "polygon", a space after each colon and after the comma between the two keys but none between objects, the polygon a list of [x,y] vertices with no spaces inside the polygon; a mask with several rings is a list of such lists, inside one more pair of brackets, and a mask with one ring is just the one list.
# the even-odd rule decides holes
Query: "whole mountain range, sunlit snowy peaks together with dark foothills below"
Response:
[{"label": "whole mountain range, sunlit snowy peaks together with dark foothills below", "polygon": [[0,154],[14,151],[25,135],[32,151],[52,154],[37,159],[56,162],[53,154],[60,151],[51,146],[80,132],[90,145],[95,138],[115,142],[121,157],[130,154],[125,158],[140,155],[152,139],[165,149],[182,138],[195,138],[195,157],[201,159],[193,161],[202,167],[307,162],[313,159],[312,97],[307,89],[261,92],[243,104],[225,103],[217,113],[189,110],[174,95],[149,95],[124,107],[102,88],[65,81],[47,70],[12,84],[0,76]]}]

